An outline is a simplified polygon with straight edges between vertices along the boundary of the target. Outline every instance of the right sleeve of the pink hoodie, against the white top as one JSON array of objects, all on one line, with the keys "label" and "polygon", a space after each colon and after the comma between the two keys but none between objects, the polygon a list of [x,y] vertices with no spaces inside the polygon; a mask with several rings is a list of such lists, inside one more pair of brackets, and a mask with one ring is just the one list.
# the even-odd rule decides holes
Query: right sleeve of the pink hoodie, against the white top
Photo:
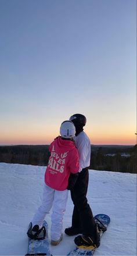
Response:
[{"label": "right sleeve of the pink hoodie, against the white top", "polygon": [[79,165],[78,151],[77,151],[77,148],[74,148],[74,150],[71,152],[69,170],[71,173],[77,173],[79,172],[79,169],[80,169],[80,165]]}]

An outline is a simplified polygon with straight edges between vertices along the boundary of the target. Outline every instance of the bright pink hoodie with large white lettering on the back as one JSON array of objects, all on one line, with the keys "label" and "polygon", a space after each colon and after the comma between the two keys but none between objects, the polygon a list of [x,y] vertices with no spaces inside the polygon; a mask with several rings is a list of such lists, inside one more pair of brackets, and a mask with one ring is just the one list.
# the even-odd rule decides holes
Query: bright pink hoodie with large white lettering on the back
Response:
[{"label": "bright pink hoodie with large white lettering on the back", "polygon": [[79,168],[78,151],[74,142],[61,137],[49,146],[51,156],[45,172],[45,183],[55,190],[66,190],[70,173],[77,173]]}]

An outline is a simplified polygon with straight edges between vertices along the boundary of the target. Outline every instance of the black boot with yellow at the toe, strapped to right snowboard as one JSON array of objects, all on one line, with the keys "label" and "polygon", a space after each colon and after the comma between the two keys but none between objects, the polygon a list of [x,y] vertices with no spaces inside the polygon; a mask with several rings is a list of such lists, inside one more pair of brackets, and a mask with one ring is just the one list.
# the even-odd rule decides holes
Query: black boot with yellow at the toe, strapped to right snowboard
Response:
[{"label": "black boot with yellow at the toe, strapped to right snowboard", "polygon": [[93,250],[99,247],[100,234],[99,234],[98,226],[96,226],[95,236],[86,236],[82,234],[81,236],[75,237],[74,242],[78,248],[83,248],[86,250]]}]

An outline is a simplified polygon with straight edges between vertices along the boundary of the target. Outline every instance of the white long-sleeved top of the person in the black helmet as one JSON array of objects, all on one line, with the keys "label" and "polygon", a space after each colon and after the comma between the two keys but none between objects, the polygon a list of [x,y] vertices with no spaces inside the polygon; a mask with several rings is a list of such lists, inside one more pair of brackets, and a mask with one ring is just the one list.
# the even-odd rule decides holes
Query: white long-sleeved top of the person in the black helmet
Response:
[{"label": "white long-sleeved top of the person in the black helmet", "polygon": [[84,131],[81,131],[77,136],[74,137],[75,145],[78,150],[80,172],[83,168],[90,165],[91,160],[91,141]]}]

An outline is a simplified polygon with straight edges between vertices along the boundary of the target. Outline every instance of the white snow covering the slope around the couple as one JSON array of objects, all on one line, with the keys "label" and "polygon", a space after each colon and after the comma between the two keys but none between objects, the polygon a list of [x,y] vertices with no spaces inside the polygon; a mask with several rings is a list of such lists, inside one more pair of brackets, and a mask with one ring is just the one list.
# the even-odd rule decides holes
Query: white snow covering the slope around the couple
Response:
[{"label": "white snow covering the slope around the couple", "polygon": [[[27,228],[41,204],[46,167],[0,163],[0,255],[27,253]],[[111,218],[94,255],[136,255],[136,174],[89,170],[88,202],[93,215]],[[70,194],[63,219],[63,240],[51,246],[53,255],[73,250],[74,236],[64,234],[71,225]],[[51,226],[51,213],[46,216]]]}]

